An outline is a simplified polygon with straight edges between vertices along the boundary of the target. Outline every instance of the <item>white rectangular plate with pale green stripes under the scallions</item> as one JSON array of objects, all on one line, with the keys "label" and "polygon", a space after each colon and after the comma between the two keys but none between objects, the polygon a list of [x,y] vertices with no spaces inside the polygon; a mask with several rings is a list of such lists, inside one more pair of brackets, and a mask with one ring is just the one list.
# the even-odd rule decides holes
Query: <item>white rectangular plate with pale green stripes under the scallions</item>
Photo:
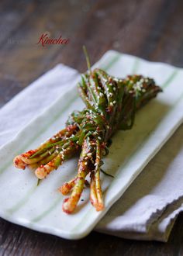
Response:
[{"label": "white rectangular plate with pale green stripes under the scallions", "polygon": [[101,175],[105,209],[97,213],[89,202],[89,189],[85,189],[75,213],[63,213],[64,196],[57,188],[74,177],[77,158],[53,171],[39,186],[31,171],[18,170],[12,164],[16,154],[37,147],[64,127],[72,110],[83,108],[77,89],[72,88],[0,149],[0,216],[5,220],[68,239],[85,237],[182,123],[183,71],[180,68],[113,50],[95,66],[118,77],[133,73],[150,76],[164,89],[136,114],[132,130],[119,131],[112,138],[103,169],[115,178]]}]

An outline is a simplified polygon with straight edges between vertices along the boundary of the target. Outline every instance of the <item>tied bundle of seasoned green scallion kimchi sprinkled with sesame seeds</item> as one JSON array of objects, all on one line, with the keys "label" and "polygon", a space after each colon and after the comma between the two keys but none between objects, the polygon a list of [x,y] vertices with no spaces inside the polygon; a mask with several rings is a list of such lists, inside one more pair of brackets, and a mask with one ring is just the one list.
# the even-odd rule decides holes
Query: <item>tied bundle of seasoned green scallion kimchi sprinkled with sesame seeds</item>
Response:
[{"label": "tied bundle of seasoned green scallion kimchi sprinkled with sesame seeds", "polygon": [[65,128],[40,147],[14,158],[17,168],[34,170],[40,182],[64,161],[81,152],[78,174],[59,189],[63,195],[71,193],[64,199],[65,213],[74,212],[88,178],[91,204],[97,211],[104,209],[100,171],[102,157],[109,152],[111,137],[116,130],[131,129],[136,110],[161,92],[152,78],[134,74],[122,79],[98,68],[91,71],[87,50],[85,47],[83,50],[88,71],[81,76],[78,92],[85,109],[72,112]]}]

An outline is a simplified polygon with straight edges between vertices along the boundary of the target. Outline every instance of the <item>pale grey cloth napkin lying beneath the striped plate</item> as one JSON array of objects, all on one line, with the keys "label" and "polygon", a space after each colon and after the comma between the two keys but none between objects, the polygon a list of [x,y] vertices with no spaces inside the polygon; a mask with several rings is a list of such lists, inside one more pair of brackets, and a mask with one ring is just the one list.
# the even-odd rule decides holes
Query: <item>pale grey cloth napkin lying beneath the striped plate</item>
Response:
[{"label": "pale grey cloth napkin lying beneath the striped plate", "polygon": [[[70,88],[78,71],[59,64],[0,109],[0,147]],[[183,126],[115,203],[96,230],[140,240],[167,241],[183,209]]]}]

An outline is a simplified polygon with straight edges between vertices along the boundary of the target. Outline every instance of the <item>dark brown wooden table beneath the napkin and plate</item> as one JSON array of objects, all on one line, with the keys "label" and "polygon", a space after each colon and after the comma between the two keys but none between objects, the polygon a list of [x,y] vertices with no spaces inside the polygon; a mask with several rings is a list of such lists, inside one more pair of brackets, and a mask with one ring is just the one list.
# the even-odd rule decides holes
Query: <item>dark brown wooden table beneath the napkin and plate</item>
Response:
[{"label": "dark brown wooden table beneath the napkin and plate", "polygon": [[[181,0],[1,1],[0,106],[59,62],[85,71],[83,44],[92,63],[115,49],[182,67],[182,11]],[[46,32],[68,37],[70,43],[36,44]],[[182,216],[167,244],[95,232],[82,240],[64,240],[0,220],[0,254],[183,255]]]}]

